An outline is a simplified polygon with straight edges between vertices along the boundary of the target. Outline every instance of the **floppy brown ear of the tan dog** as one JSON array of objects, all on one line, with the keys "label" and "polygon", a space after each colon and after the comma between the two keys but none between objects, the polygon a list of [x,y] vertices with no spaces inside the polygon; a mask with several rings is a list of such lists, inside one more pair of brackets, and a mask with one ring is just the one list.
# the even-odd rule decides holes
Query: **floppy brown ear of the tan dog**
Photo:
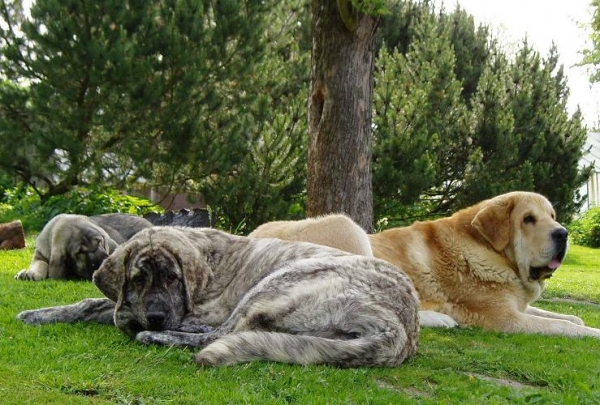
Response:
[{"label": "floppy brown ear of the tan dog", "polygon": [[493,248],[500,252],[510,241],[510,213],[513,209],[512,200],[494,198],[483,205],[483,208],[471,221]]}]

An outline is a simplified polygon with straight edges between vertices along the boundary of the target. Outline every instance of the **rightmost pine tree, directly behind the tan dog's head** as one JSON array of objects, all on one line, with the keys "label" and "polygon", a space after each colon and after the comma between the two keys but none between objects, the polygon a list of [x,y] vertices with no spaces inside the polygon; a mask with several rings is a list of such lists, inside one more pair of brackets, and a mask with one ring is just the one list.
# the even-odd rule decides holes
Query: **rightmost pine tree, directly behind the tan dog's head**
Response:
[{"label": "rightmost pine tree, directly behind the tan dog's head", "polygon": [[536,191],[569,221],[582,199],[579,187],[590,168],[580,169],[586,130],[569,116],[568,88],[555,48],[542,59],[527,42],[509,62],[494,52],[473,98],[471,163],[455,209],[514,190]]}]

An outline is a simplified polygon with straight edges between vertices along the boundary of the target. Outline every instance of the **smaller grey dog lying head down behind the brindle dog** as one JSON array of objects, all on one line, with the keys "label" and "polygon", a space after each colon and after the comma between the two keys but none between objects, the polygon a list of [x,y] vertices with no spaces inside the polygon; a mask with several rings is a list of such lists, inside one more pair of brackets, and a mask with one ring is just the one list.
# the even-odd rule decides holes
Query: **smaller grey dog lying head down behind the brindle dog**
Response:
[{"label": "smaller grey dog lying head down behind the brindle dog", "polygon": [[30,267],[19,271],[15,278],[91,280],[119,244],[151,226],[146,219],[128,214],[57,215],[38,235]]}]

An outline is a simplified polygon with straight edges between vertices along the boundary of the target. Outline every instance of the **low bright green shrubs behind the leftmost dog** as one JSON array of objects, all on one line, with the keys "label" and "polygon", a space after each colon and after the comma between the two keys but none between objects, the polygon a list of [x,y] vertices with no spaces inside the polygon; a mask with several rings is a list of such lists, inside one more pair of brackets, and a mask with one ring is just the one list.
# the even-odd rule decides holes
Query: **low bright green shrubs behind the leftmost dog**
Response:
[{"label": "low bright green shrubs behind the leftmost dog", "polygon": [[58,214],[100,215],[121,212],[143,216],[162,209],[149,200],[112,189],[75,188],[42,202],[31,188],[5,190],[0,203],[0,223],[20,219],[28,232],[39,232]]}]

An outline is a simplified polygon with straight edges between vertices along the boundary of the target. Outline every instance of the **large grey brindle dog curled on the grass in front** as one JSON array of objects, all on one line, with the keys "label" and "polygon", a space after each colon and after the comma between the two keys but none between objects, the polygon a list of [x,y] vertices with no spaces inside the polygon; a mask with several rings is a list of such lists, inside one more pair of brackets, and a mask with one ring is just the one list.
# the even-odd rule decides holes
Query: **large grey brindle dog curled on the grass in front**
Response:
[{"label": "large grey brindle dog curled on the grass in front", "polygon": [[396,366],[418,346],[418,299],[384,261],[310,243],[155,227],[94,274],[108,298],[21,312],[26,323],[116,324],[196,361]]}]

